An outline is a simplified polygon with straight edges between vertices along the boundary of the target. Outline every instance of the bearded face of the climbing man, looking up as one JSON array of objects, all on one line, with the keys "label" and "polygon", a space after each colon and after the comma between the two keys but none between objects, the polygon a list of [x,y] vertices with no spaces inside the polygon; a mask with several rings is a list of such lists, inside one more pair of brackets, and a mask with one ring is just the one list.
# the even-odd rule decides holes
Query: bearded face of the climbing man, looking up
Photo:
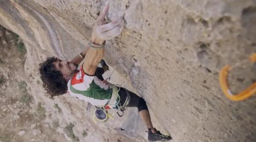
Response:
[{"label": "bearded face of the climbing man, looking up", "polygon": [[66,80],[69,80],[74,75],[74,73],[76,73],[77,65],[70,63],[67,60],[54,61],[52,64],[54,64],[55,69],[60,71]]}]

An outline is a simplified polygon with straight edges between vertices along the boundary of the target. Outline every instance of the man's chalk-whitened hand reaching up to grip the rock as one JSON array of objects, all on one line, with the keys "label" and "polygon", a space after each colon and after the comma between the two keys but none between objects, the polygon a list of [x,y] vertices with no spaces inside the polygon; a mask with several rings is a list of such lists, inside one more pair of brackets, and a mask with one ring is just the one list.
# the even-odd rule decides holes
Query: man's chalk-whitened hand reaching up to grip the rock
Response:
[{"label": "man's chalk-whitened hand reaching up to grip the rock", "polygon": [[93,26],[91,42],[93,42],[94,44],[102,45],[105,40],[113,39],[121,33],[124,26],[124,20],[122,20],[122,18],[102,25],[105,21],[105,16],[108,13],[108,8],[109,5],[103,8],[101,14],[96,19],[95,25]]}]

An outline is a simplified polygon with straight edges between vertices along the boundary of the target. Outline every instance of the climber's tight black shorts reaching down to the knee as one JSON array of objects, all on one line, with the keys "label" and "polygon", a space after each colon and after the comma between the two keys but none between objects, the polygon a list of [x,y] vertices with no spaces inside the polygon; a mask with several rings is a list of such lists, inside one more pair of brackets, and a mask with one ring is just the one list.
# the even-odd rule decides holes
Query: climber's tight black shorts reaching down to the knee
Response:
[{"label": "climber's tight black shorts reaching down to the knee", "polygon": [[145,100],[142,97],[139,97],[135,93],[129,91],[125,88],[120,87],[120,91],[118,92],[120,96],[120,105],[122,106],[125,103],[127,93],[130,94],[130,102],[126,107],[137,107],[138,111],[140,112],[141,110],[148,110],[148,106],[145,102]]}]

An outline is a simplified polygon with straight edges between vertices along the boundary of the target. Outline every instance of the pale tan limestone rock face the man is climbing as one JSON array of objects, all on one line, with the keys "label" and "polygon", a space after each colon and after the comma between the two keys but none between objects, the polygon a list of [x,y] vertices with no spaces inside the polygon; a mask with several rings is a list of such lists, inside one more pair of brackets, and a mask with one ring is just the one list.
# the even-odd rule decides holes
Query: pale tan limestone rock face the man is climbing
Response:
[{"label": "pale tan limestone rock face the man is climbing", "polygon": [[[75,123],[81,142],[145,142],[146,127],[137,110],[95,123],[86,103],[68,95],[52,101],[36,83],[39,76],[29,78],[38,75],[38,64],[48,56],[70,59],[80,53],[105,3],[0,0],[0,24],[23,39],[30,93],[49,110],[58,103],[60,126]],[[146,100],[157,128],[168,131],[175,142],[256,141],[256,97],[232,102],[218,84],[224,65],[243,70],[241,63],[256,52],[255,0],[110,0],[107,21],[120,16],[125,28],[107,41],[105,58],[126,86],[133,86],[128,89]],[[255,79],[255,73],[246,77]]]}]

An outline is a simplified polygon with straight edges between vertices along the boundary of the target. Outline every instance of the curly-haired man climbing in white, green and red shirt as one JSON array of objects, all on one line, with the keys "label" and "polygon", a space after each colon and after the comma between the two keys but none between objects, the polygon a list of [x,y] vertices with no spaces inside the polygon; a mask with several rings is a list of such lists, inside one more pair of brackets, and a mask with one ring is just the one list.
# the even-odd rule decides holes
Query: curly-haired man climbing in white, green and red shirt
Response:
[{"label": "curly-haired man climbing in white, green and red shirt", "polygon": [[[151,142],[168,141],[172,139],[171,136],[165,136],[153,127],[143,98],[125,88],[102,81],[101,75],[108,70],[107,64],[102,61],[105,41],[118,36],[124,26],[122,18],[103,24],[108,7],[107,5],[96,19],[90,42],[83,52],[71,61],[50,57],[40,64],[39,71],[43,86],[51,99],[68,92],[71,96],[97,107],[108,109],[137,107],[140,117],[148,128],[148,140]],[[77,70],[80,62],[82,66],[80,70]],[[101,68],[97,67],[99,62],[101,62]]]}]

